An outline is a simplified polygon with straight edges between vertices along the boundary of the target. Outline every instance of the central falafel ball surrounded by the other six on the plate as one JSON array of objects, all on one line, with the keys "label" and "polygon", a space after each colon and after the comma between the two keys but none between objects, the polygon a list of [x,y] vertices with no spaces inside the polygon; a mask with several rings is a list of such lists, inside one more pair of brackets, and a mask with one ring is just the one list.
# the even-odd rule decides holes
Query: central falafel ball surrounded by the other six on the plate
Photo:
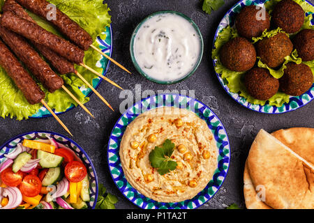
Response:
[{"label": "central falafel ball surrounded by the other six on the plate", "polygon": [[271,38],[264,38],[257,42],[257,56],[260,56],[263,63],[269,68],[277,68],[285,61],[285,56],[291,54],[292,42],[285,33],[278,33]]}]

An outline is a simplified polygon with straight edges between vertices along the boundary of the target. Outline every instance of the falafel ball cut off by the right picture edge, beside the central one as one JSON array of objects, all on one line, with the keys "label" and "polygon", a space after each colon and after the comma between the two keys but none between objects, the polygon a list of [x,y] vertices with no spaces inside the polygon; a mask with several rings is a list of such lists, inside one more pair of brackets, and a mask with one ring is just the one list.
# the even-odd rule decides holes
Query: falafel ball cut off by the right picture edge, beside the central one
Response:
[{"label": "falafel ball cut off by the right picture edge, beside the central one", "polygon": [[302,61],[314,60],[314,30],[304,29],[297,33],[292,40],[294,48],[297,49],[298,56]]}]

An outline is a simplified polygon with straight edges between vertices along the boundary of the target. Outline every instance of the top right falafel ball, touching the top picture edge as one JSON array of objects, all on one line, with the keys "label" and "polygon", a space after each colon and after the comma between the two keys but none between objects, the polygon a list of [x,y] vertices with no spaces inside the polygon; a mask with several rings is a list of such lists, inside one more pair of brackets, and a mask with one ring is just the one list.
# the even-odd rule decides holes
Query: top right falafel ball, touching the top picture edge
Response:
[{"label": "top right falafel ball, touching the top picture edge", "polygon": [[292,0],[279,1],[271,16],[274,25],[281,27],[286,33],[299,31],[305,17],[302,7]]}]

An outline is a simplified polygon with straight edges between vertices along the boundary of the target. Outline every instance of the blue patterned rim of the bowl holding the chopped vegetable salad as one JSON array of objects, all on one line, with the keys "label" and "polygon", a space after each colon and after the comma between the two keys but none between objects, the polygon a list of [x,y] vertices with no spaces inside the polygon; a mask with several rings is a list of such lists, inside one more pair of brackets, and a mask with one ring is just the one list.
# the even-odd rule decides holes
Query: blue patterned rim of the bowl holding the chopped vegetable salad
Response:
[{"label": "blue patterned rim of the bowl holding the chopped vegetable salad", "polygon": [[89,174],[89,195],[91,197],[91,201],[87,202],[87,206],[94,209],[98,197],[98,180],[96,176],[96,171],[87,153],[85,153],[85,151],[72,139],[68,139],[63,135],[54,132],[40,131],[20,134],[19,136],[10,139],[0,147],[0,164],[6,160],[4,154],[8,154],[13,151],[16,148],[16,145],[22,143],[24,139],[45,141],[49,140],[48,137],[55,139],[61,148],[70,148],[77,155],[77,157],[82,160],[85,167],[87,167],[87,174]]}]

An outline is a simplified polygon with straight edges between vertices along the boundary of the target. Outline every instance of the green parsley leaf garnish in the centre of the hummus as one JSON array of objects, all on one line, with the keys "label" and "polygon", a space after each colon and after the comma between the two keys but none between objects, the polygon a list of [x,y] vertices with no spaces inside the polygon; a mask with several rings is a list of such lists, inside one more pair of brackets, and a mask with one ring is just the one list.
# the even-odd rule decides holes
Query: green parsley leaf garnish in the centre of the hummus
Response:
[{"label": "green parsley leaf garnish in the centre of the hummus", "polygon": [[151,167],[156,168],[160,175],[167,174],[177,168],[177,162],[170,159],[173,151],[174,144],[169,139],[166,139],[161,147],[156,146],[149,153]]}]

